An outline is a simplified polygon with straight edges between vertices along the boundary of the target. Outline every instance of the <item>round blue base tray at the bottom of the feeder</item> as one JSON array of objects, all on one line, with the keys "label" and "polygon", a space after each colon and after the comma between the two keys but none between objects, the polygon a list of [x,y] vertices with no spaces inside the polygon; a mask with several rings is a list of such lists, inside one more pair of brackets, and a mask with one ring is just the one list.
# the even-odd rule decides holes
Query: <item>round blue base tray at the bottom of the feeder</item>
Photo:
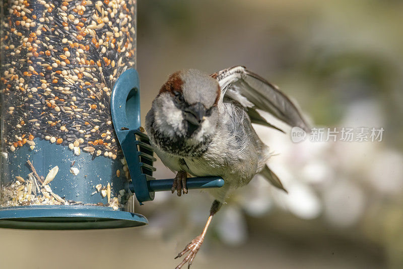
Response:
[{"label": "round blue base tray at the bottom of the feeder", "polygon": [[103,206],[38,205],[3,207],[0,228],[31,230],[89,230],[147,225],[141,214]]}]

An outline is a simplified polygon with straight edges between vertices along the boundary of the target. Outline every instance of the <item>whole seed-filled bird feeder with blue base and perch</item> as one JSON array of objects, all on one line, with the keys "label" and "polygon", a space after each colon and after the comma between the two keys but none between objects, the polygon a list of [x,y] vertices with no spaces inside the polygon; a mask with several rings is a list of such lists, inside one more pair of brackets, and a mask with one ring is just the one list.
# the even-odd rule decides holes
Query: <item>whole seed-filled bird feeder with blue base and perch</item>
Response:
[{"label": "whole seed-filled bird feeder with blue base and perch", "polygon": [[136,1],[16,3],[2,3],[0,227],[148,224],[127,202],[153,200],[173,179],[152,177],[140,127]]}]

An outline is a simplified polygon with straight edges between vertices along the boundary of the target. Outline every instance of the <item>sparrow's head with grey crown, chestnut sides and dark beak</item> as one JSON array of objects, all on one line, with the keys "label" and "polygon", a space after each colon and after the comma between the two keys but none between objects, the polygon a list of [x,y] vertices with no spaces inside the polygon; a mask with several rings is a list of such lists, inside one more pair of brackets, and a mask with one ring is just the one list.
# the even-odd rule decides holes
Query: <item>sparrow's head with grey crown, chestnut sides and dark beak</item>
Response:
[{"label": "sparrow's head with grey crown, chestnut sides and dark beak", "polygon": [[173,73],[153,101],[152,129],[187,145],[208,143],[218,122],[220,93],[208,74],[194,69]]}]

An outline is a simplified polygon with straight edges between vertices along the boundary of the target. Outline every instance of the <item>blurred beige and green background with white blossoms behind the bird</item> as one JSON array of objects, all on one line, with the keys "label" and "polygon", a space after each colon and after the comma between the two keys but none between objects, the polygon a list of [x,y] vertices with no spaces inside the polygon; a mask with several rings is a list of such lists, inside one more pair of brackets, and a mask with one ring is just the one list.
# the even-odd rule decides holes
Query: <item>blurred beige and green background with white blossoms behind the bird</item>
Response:
[{"label": "blurred beige and green background with white blossoms behind the bird", "polygon": [[[289,194],[258,177],[239,189],[192,268],[403,267],[402,15],[393,0],[139,2],[143,123],[170,73],[244,65],[298,100],[314,126],[385,130],[381,142],[296,144],[256,127]],[[156,167],[156,178],[174,176]],[[142,228],[0,229],[0,267],[174,268],[212,201],[156,193],[137,204],[150,221]]]}]

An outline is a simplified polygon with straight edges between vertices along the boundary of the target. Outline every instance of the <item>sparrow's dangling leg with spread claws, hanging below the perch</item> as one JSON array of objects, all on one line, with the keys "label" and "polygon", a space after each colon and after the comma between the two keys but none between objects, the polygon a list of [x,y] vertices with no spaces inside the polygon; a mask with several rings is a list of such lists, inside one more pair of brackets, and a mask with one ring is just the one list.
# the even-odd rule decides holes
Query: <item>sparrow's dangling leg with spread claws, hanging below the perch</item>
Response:
[{"label": "sparrow's dangling leg with spread claws, hanging below the perch", "polygon": [[203,229],[203,232],[197,236],[196,238],[194,238],[189,244],[187,244],[187,246],[185,247],[185,249],[183,249],[182,252],[180,252],[176,257],[179,258],[181,257],[183,254],[185,254],[186,252],[190,251],[186,257],[184,257],[184,259],[182,260],[182,262],[175,267],[175,269],[180,269],[182,268],[183,264],[185,264],[187,261],[189,262],[187,265],[187,268],[190,267],[190,265],[193,262],[194,257],[196,256],[197,251],[199,250],[201,244],[203,244],[203,241],[205,240],[205,236],[207,233],[207,229],[210,226],[211,220],[213,219],[213,216],[215,213],[217,213],[217,211],[221,208],[222,203],[218,200],[214,200],[211,208],[210,208],[210,216],[209,219],[207,220],[205,229]]}]

